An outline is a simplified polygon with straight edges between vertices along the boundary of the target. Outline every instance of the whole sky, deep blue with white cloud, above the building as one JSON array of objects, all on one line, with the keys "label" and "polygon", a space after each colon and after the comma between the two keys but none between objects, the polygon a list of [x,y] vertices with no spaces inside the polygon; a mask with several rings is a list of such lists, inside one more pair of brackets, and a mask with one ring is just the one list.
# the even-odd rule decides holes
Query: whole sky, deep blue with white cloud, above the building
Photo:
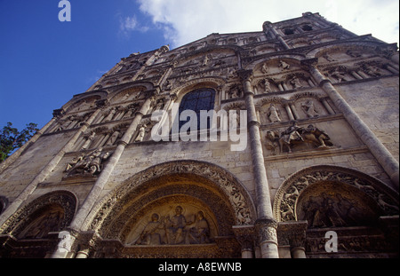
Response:
[{"label": "whole sky, deep blue with white cloud, above the building", "polygon": [[59,2],[0,0],[0,128],[43,127],[132,52],[260,31],[302,12],[398,43],[398,0],[69,0],[70,22],[58,19]]}]

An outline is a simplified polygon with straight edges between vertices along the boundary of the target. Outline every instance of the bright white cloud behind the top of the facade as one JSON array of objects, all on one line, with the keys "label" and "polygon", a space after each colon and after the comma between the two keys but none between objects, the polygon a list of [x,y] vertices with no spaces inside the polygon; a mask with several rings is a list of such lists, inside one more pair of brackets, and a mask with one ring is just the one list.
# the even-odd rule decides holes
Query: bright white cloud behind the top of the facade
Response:
[{"label": "bright white cloud behind the top of the facade", "polygon": [[356,35],[398,43],[398,0],[137,0],[140,11],[164,29],[172,48],[212,33],[260,31],[277,22],[319,12]]}]

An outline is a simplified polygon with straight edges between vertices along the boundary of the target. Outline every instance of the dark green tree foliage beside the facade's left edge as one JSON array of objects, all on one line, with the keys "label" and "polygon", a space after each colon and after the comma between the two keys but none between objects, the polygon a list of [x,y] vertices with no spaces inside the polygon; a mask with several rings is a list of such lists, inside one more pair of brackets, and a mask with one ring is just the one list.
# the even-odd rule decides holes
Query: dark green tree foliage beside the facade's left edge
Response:
[{"label": "dark green tree foliage beside the facade's left edge", "polygon": [[36,123],[29,122],[25,129],[18,130],[12,127],[12,122],[7,122],[3,130],[0,130],[0,162],[32,138],[38,130],[36,127]]}]

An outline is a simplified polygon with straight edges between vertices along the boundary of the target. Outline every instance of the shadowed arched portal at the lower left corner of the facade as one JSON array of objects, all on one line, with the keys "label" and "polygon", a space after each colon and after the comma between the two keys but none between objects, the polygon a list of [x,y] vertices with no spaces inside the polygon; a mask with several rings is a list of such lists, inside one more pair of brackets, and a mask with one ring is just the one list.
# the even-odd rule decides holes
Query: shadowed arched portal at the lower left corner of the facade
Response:
[{"label": "shadowed arched portal at the lower left corner of the facade", "polygon": [[1,257],[45,257],[76,213],[74,193],[46,193],[15,212],[0,229]]}]

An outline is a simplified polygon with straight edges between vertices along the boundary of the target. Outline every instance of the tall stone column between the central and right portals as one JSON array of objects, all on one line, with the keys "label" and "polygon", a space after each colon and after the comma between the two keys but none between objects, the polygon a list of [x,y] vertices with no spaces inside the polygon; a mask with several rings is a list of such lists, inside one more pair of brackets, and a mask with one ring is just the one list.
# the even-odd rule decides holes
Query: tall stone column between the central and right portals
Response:
[{"label": "tall stone column between the central and right portals", "polygon": [[[254,175],[254,185],[256,190],[257,205],[257,233],[273,233],[274,219],[272,213],[271,198],[269,194],[269,186],[267,179],[267,171],[264,164],[264,156],[262,154],[262,145],[260,138],[260,122],[257,120],[256,109],[254,106],[254,93],[252,91],[252,70],[243,70],[238,72],[244,86],[244,99],[247,109],[247,122],[250,135],[250,147],[252,151],[252,167]],[[268,224],[265,222],[268,221]],[[261,256],[278,257],[276,240],[271,239],[271,235],[260,236]]]}]

